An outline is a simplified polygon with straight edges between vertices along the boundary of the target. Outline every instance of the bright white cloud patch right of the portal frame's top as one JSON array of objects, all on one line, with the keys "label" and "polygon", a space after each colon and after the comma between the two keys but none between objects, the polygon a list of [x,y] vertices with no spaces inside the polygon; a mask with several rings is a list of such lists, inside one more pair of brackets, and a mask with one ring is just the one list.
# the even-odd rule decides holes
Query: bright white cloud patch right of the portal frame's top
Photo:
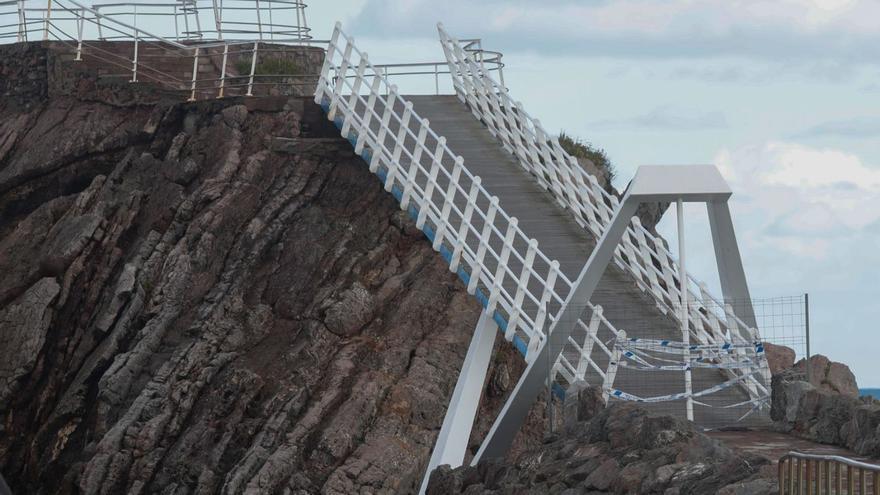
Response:
[{"label": "bright white cloud patch right of the portal frame's top", "polygon": [[720,151],[753,248],[823,260],[873,249],[880,169],[841,150],[769,142]]}]

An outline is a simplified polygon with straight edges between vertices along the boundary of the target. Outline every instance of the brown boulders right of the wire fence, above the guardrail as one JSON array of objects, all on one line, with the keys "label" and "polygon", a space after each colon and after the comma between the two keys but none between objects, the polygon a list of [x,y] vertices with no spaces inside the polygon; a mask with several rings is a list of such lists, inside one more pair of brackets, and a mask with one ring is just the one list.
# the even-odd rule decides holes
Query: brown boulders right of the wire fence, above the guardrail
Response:
[{"label": "brown boulders right of the wire fence, above the guardrail", "polygon": [[[827,358],[815,359],[811,372],[818,371],[811,374],[825,376],[826,368],[820,366],[823,362]],[[770,417],[776,427],[808,440],[880,457],[880,401],[841,394],[822,383],[807,381],[799,366],[775,375]]]}]

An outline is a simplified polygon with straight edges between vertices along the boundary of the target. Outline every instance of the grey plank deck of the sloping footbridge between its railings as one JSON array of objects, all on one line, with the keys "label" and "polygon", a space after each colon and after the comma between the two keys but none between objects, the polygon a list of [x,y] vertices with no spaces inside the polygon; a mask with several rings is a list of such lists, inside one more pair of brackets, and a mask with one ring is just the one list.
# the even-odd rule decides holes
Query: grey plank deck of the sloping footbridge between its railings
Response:
[{"label": "grey plank deck of the sloping footbridge between its railings", "polygon": [[[574,280],[584,266],[595,246],[596,240],[582,229],[567,212],[556,204],[550,193],[539,186],[534,178],[519,166],[513,155],[508,153],[480,121],[474,118],[470,109],[456,96],[404,96],[412,102],[413,110],[430,122],[431,129],[446,138],[446,144],[464,158],[464,164],[475,176],[482,179],[486,190],[499,198],[499,205],[507,214],[518,220],[519,228],[538,241],[540,250],[550,259],[559,261],[561,273]],[[413,128],[415,126],[413,125]],[[430,148],[434,143],[427,142]],[[459,206],[463,208],[464,198]],[[476,243],[477,240],[471,240]],[[518,260],[509,261],[512,271],[519,273],[522,264]],[[506,278],[505,289],[513,293],[517,280]],[[590,301],[603,308],[602,315],[618,329],[626,329],[630,337],[680,340],[679,324],[669,314],[659,310],[653,300],[646,295],[632,276],[617,265],[606,270],[602,281]],[[551,308],[551,313],[553,309]],[[593,310],[584,304],[582,321],[590,321]],[[607,342],[614,335],[607,326],[598,333],[598,340]],[[583,342],[585,332],[580,329],[575,340]],[[578,352],[573,347],[563,351],[569,362],[577,362]],[[598,347],[594,348],[592,360],[600,367],[607,368],[608,356]],[[684,392],[680,371],[649,372],[632,368],[620,368],[614,380],[614,387],[640,397],[654,397]],[[726,380],[723,373],[715,369],[695,369],[693,372],[694,390],[704,390]],[[590,369],[586,375],[588,383],[601,383],[601,377]],[[748,402],[748,393],[740,387],[730,387],[701,399],[709,406],[724,406]],[[658,412],[685,416],[682,401],[655,402],[646,407]],[[694,412],[694,421],[706,427],[727,426],[747,414],[752,406],[744,404],[735,408],[719,409],[699,407]],[[768,424],[765,415],[749,415],[741,425],[763,426]]]}]

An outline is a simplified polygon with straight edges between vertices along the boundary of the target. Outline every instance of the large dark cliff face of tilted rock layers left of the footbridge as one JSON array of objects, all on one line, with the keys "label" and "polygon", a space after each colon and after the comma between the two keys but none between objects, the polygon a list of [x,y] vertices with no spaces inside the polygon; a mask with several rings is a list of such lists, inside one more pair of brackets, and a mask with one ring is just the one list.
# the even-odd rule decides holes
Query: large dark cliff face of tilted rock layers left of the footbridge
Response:
[{"label": "large dark cliff face of tilted rock layers left of the footbridge", "polygon": [[[50,52],[0,48],[15,493],[417,486],[480,307],[320,109],[65,93]],[[505,344],[475,444],[523,366]]]}]

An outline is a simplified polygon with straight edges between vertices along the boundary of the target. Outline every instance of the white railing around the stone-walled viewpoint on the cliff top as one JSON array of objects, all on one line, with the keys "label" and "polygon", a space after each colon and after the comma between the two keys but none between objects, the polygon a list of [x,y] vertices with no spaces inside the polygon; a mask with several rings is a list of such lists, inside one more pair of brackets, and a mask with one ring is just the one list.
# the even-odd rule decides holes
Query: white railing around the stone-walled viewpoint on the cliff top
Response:
[{"label": "white railing around the stone-walled viewpoint on the cliff top", "polygon": [[[201,8],[200,8],[201,6]],[[296,0],[225,0],[199,2],[114,2],[86,6],[77,0],[0,1],[0,43],[29,40],[67,44],[75,60],[94,58],[131,82],[148,80],[188,94],[206,97],[253,95],[255,88],[297,86],[311,93],[317,75],[292,64],[276,64],[267,73],[262,60],[290,57],[292,47],[324,47],[315,40],[306,20],[306,4]],[[204,15],[205,12],[209,15]],[[225,13],[234,14],[230,20]],[[99,41],[132,42],[122,54]],[[145,46],[160,54],[145,53]],[[465,50],[504,80],[498,52],[483,50],[478,39],[467,40]],[[157,61],[163,57],[164,61]],[[191,69],[169,71],[168,58],[182,58]],[[233,63],[236,61],[236,63]],[[213,73],[200,74],[206,64]],[[386,77],[433,75],[440,92],[445,61],[376,65]]]}]

